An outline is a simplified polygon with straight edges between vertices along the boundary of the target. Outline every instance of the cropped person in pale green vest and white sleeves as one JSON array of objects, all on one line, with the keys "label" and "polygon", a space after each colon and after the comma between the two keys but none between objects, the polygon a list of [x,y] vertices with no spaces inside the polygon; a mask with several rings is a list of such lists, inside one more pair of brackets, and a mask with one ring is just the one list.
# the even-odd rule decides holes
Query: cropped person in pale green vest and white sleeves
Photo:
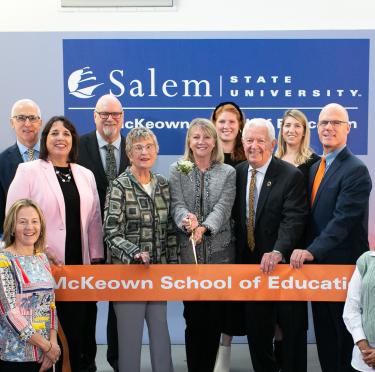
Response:
[{"label": "cropped person in pale green vest and white sleeves", "polygon": [[353,336],[352,367],[355,371],[375,370],[375,252],[362,254],[349,283],[344,322]]}]

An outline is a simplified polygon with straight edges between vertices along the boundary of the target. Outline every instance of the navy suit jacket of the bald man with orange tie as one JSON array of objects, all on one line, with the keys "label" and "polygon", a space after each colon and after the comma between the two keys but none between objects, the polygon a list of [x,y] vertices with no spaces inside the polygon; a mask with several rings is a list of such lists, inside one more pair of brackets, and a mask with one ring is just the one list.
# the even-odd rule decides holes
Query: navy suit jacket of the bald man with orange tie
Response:
[{"label": "navy suit jacket of the bald man with orange tie", "polygon": [[[310,169],[309,195],[319,164]],[[355,264],[369,249],[371,188],[366,165],[345,147],[328,168],[311,206],[306,249],[314,263]]]}]

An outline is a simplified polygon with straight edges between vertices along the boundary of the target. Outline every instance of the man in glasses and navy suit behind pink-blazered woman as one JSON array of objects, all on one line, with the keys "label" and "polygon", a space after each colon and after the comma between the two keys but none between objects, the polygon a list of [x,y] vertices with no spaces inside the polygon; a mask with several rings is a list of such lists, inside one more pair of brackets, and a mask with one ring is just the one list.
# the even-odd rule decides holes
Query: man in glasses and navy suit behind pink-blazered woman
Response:
[{"label": "man in glasses and navy suit behind pink-blazered woman", "polygon": [[5,203],[18,164],[39,158],[39,132],[42,119],[39,106],[21,99],[12,106],[10,124],[17,141],[0,154],[0,236],[3,234]]}]

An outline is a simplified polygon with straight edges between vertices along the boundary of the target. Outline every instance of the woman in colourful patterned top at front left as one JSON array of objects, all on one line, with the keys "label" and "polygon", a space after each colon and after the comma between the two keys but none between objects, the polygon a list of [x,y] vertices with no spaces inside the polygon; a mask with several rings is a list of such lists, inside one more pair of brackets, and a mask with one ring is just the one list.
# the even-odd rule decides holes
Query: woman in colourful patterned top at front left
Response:
[{"label": "woman in colourful patterned top at front left", "polygon": [[4,221],[0,251],[0,371],[50,370],[59,359],[54,280],[44,254],[46,225],[29,199]]}]

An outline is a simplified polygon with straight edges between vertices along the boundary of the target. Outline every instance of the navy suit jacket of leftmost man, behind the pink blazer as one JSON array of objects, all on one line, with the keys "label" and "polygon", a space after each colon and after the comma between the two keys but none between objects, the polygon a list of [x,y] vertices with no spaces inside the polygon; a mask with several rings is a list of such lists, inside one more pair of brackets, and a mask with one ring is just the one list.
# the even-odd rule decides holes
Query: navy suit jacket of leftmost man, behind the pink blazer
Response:
[{"label": "navy suit jacket of leftmost man, behind the pink blazer", "polygon": [[3,233],[5,204],[9,185],[12,183],[20,163],[23,163],[23,159],[17,143],[0,154],[0,234]]}]

